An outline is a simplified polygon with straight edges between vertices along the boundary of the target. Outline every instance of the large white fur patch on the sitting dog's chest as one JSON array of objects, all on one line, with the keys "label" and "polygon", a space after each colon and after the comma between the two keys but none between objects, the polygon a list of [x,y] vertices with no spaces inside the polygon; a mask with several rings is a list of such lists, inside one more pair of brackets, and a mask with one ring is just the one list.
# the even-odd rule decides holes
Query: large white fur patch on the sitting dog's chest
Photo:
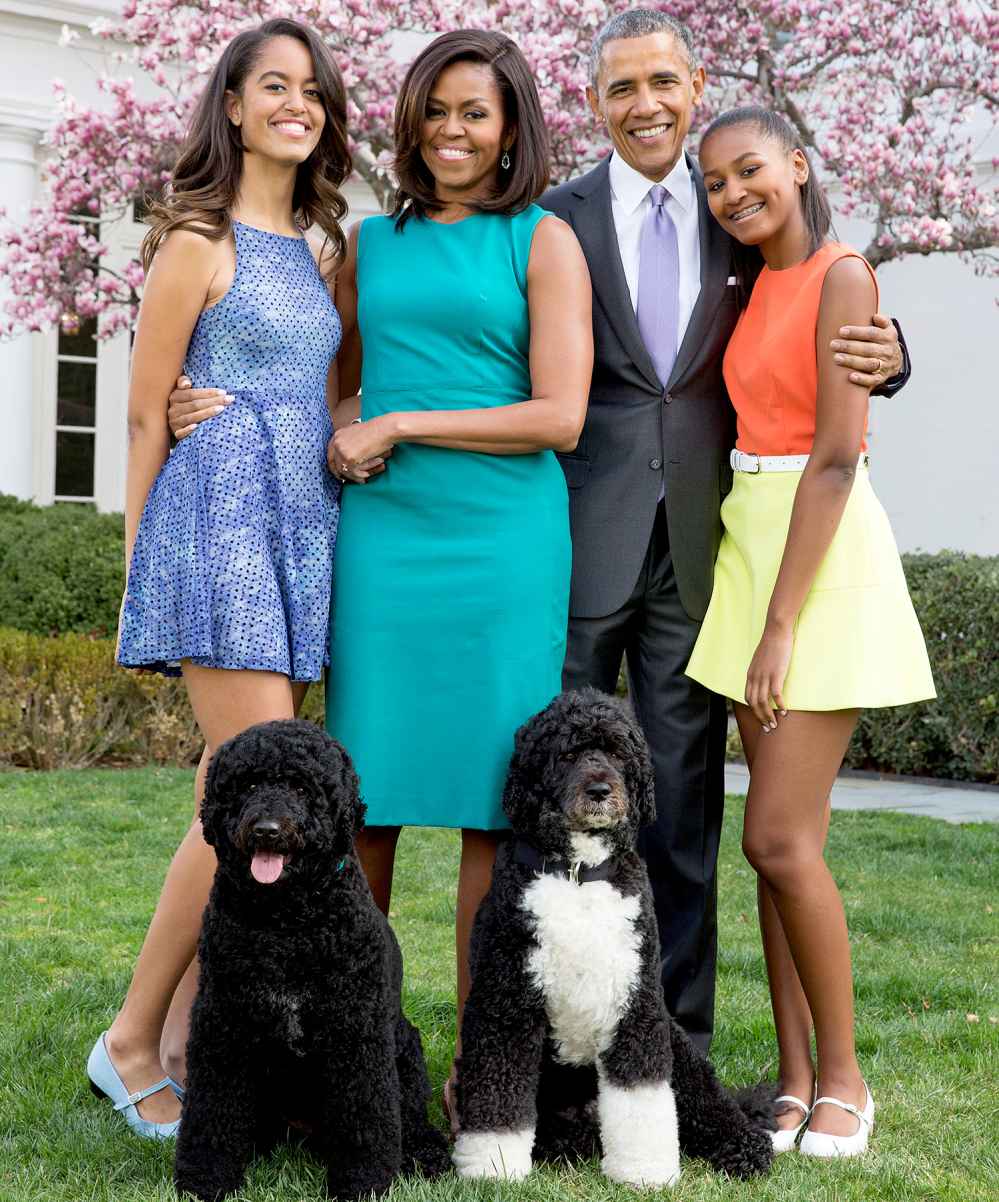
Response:
[{"label": "large white fur patch on the sitting dog's chest", "polygon": [[522,905],[537,941],[527,968],[545,998],[557,1055],[564,1064],[594,1064],[638,981],[638,895],[625,897],[608,881],[576,885],[542,875],[524,889]]}]

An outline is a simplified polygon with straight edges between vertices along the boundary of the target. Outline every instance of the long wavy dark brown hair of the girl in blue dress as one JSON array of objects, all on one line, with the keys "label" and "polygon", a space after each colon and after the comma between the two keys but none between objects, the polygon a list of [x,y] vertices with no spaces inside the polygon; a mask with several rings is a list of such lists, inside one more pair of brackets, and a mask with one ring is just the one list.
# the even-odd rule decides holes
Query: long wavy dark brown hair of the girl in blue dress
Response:
[{"label": "long wavy dark brown hair of the girl in blue dress", "polygon": [[163,238],[189,230],[213,242],[232,228],[231,212],[243,174],[242,133],[226,117],[226,93],[242,93],[246,76],[272,37],[293,37],[309,52],[326,109],[319,143],[298,167],[292,207],[302,230],[317,225],[332,244],[332,263],[346,251],[340,221],[346,201],[340,185],[351,172],[347,148],[347,102],[340,69],[329,47],[307,25],[278,18],[237,34],[222,52],[198,99],[188,137],[180,148],[166,194],[149,206],[150,230],[142,240],[142,266],[149,270]]}]

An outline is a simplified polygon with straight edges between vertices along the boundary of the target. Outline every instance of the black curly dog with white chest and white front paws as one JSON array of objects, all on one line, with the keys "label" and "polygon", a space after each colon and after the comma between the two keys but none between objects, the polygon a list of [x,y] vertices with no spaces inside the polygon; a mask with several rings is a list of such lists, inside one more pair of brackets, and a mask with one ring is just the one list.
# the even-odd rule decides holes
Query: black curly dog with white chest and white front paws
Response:
[{"label": "black curly dog with white chest and white front paws", "polygon": [[454,1165],[523,1177],[531,1158],[602,1150],[607,1177],[658,1188],[679,1153],[738,1177],[773,1158],[772,1105],[745,1108],[666,1012],[638,827],[655,816],[646,740],[613,698],[563,694],[517,732],[515,838],[475,920]]}]

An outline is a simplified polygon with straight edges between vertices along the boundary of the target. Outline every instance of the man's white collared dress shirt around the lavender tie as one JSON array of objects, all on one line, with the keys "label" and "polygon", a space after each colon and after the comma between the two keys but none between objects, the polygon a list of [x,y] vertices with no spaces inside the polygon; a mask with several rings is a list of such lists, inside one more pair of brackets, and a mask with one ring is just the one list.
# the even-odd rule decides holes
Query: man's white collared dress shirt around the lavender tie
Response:
[{"label": "man's white collared dress shirt around the lavender tie", "polygon": [[[652,201],[649,190],[654,182],[646,179],[630,167],[619,155],[611,156],[611,213],[618,236],[620,258],[624,264],[624,276],[628,291],[631,293],[631,307],[638,310],[638,243],[642,237],[642,222]],[[666,210],[677,227],[677,249],[679,251],[679,313],[677,329],[677,349],[683,343],[683,335],[694,313],[694,305],[701,292],[701,237],[697,228],[697,192],[690,178],[685,155],[680,155],[676,166],[665,179],[658,180],[670,194],[666,198]]]}]

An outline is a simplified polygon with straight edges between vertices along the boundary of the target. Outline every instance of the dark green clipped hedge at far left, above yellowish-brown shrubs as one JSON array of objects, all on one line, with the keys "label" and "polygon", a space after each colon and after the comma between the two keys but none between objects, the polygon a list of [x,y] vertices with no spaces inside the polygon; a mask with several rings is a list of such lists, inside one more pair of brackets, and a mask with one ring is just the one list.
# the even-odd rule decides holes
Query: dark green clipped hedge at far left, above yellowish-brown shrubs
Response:
[{"label": "dark green clipped hedge at far left, above yellowish-brown shrubs", "polygon": [[124,587],[120,513],[0,496],[0,624],[113,636]]}]

